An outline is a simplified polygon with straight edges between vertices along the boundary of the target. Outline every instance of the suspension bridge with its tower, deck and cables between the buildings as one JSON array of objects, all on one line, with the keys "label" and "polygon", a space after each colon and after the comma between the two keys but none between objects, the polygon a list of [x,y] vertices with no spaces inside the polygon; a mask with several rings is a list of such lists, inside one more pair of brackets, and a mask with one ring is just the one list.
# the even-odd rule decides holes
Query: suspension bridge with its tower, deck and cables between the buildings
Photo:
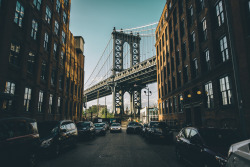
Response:
[{"label": "suspension bridge with its tower, deck and cables between the buildings", "polygon": [[155,29],[158,23],[116,30],[90,77],[84,99],[89,102],[112,94],[112,112],[124,115],[124,93],[130,95],[131,115],[139,117],[141,90],[157,81]]}]

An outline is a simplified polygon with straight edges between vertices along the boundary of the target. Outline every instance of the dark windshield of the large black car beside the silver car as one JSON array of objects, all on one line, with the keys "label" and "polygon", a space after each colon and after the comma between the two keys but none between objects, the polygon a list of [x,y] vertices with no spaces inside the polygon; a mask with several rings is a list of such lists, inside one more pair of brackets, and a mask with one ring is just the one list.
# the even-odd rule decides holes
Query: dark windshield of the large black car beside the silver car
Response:
[{"label": "dark windshield of the large black car beside the silver car", "polygon": [[209,146],[230,146],[241,141],[240,134],[232,129],[200,129],[199,132]]}]

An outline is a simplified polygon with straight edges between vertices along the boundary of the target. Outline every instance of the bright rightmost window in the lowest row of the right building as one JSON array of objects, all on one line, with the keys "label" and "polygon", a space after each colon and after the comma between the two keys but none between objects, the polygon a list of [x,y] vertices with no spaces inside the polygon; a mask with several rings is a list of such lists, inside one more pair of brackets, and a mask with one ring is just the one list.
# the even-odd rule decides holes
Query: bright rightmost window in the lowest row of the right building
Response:
[{"label": "bright rightmost window in the lowest row of the right building", "polygon": [[229,83],[229,77],[223,77],[220,79],[220,91],[222,97],[222,104],[229,105],[232,104],[232,93],[231,93],[231,85]]}]

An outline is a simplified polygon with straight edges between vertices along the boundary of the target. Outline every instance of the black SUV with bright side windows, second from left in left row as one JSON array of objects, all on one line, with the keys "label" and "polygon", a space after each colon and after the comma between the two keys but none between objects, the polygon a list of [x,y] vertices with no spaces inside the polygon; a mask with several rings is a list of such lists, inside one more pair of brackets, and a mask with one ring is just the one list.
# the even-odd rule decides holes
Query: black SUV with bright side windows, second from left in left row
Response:
[{"label": "black SUV with bright side windows, second from left in left row", "polygon": [[64,147],[75,145],[77,142],[77,128],[70,120],[39,122],[38,130],[42,154],[58,156]]}]

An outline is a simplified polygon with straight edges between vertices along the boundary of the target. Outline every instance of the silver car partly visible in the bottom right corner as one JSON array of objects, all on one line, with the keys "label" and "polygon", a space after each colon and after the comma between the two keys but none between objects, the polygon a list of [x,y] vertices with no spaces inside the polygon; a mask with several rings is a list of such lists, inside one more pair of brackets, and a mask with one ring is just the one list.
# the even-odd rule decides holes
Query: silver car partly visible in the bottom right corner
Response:
[{"label": "silver car partly visible in the bottom right corner", "polygon": [[228,151],[227,167],[250,166],[250,139],[231,145]]}]

